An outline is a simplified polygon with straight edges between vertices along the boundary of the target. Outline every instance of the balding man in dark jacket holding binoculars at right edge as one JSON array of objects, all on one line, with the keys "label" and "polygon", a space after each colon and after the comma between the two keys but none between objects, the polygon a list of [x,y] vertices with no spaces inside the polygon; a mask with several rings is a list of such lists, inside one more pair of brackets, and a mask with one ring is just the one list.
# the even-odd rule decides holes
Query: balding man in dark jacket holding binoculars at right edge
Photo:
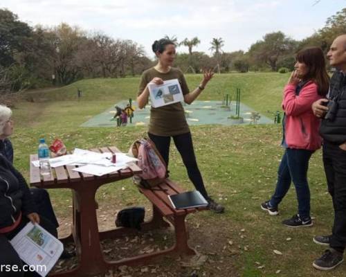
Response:
[{"label": "balding man in dark jacket holding binoculars at right edge", "polygon": [[346,34],[336,37],[327,59],[336,68],[331,77],[328,99],[318,100],[312,105],[313,114],[322,118],[323,165],[334,207],[331,235],[313,238],[317,244],[329,246],[313,262],[313,267],[320,270],[340,265],[346,246]]}]

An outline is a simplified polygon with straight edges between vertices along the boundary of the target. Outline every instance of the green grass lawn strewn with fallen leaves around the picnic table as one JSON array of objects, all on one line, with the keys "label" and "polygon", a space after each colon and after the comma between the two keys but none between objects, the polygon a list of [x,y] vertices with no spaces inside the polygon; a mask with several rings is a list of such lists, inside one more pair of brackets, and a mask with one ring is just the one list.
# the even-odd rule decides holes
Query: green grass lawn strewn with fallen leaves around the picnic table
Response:
[{"label": "green grass lawn strewn with fallen leaves around the picnic table", "polygon": [[[288,74],[278,73],[216,75],[199,99],[221,100],[223,93],[233,95],[235,88],[239,87],[242,89],[241,101],[266,114],[268,110],[280,109],[282,89],[288,78]],[[201,75],[187,75],[187,80],[192,89],[199,84]],[[115,129],[79,126],[113,103],[135,98],[138,82],[139,78],[82,80],[46,93],[32,93],[35,102],[20,102],[13,110],[15,166],[28,177],[28,154],[36,152],[38,139],[43,136],[48,142],[60,137],[70,150],[115,144],[127,151],[132,141],[145,136],[145,127]],[[83,91],[80,102],[76,100],[77,87]],[[45,101],[36,102],[39,98]],[[327,273],[316,271],[311,266],[324,250],[324,247],[312,242],[313,235],[330,233],[334,216],[320,151],[313,154],[309,168],[311,212],[316,217],[314,226],[289,229],[280,222],[296,213],[293,188],[280,205],[279,216],[269,216],[260,209],[261,202],[273,193],[277,166],[282,156],[281,126],[203,125],[191,127],[191,131],[207,190],[226,206],[224,215],[203,212],[188,219],[194,223],[212,222],[208,234],[210,238],[213,231],[222,230],[215,240],[224,241],[224,248],[220,249],[215,260],[220,260],[223,251],[237,251],[239,255],[232,263],[239,276],[345,276],[346,264]],[[174,181],[192,189],[174,147],[170,156],[170,172]],[[50,190],[50,193],[60,220],[70,217],[69,190]],[[98,201],[100,206],[109,208],[145,203],[130,180],[100,188]],[[113,221],[113,218],[110,220]],[[192,228],[191,232],[194,231]],[[273,250],[281,251],[282,255],[275,254]],[[210,272],[206,276],[225,276],[218,274],[217,267],[210,267],[212,265],[206,264],[199,270]]]}]

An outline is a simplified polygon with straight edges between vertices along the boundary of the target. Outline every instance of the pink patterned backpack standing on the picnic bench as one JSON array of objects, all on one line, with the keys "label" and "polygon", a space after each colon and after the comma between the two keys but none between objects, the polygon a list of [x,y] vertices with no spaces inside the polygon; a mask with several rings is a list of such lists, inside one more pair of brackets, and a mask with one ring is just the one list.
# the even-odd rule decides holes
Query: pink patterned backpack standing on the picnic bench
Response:
[{"label": "pink patterned backpack standing on the picnic bench", "polygon": [[161,183],[161,179],[165,179],[167,172],[165,161],[150,139],[135,141],[131,145],[129,154],[138,159],[137,166],[143,170],[140,175],[134,177],[136,184],[143,184],[145,180],[147,185],[156,186]]}]

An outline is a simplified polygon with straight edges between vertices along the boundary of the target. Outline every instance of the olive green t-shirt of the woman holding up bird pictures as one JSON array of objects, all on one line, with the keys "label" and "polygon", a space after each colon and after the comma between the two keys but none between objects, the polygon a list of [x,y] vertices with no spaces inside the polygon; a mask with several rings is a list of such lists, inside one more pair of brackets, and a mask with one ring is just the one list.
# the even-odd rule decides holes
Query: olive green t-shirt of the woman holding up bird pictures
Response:
[{"label": "olive green t-shirt of the woman holding up bird pictures", "polygon": [[[183,95],[189,93],[188,84],[183,73],[179,69],[171,68],[167,73],[158,72],[154,67],[143,72],[138,96],[142,93],[147,84],[155,77],[164,81],[178,79]],[[149,133],[156,136],[176,136],[190,132],[188,123],[186,122],[185,112],[181,102],[176,102],[163,107],[152,107],[150,109]]]}]

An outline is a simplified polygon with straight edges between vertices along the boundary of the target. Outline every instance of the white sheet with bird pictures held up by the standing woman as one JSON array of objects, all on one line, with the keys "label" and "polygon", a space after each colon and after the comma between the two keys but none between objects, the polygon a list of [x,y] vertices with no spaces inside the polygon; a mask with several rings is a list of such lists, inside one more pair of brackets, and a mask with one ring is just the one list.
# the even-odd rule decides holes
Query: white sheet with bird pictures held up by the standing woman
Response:
[{"label": "white sheet with bird pictures held up by the standing woman", "polygon": [[181,91],[178,79],[167,80],[160,85],[149,82],[148,89],[152,107],[154,108],[184,100],[183,91]]}]

